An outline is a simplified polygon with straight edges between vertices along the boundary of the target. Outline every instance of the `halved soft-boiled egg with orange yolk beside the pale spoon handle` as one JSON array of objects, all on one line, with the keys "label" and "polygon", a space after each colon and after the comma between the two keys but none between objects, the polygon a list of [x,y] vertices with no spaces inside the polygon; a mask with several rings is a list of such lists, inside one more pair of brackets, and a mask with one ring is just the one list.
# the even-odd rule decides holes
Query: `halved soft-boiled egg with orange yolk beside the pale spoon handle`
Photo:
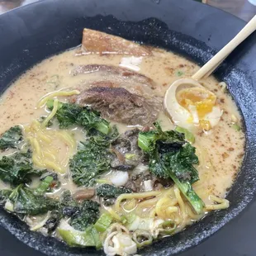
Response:
[{"label": "halved soft-boiled egg with orange yolk beside the pale spoon handle", "polygon": [[220,121],[223,111],[216,95],[192,79],[172,83],[164,97],[164,107],[174,124],[193,130],[211,130]]}]

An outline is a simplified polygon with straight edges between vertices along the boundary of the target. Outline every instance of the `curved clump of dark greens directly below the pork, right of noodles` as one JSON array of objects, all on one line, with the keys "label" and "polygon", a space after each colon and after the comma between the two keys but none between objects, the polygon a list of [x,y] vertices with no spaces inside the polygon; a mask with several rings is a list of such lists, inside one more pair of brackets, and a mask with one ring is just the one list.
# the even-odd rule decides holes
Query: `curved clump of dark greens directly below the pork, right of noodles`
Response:
[{"label": "curved clump of dark greens directly below the pork, right of noodles", "polygon": [[[47,107],[53,108],[53,100],[47,102]],[[98,111],[72,103],[58,102],[55,116],[61,129],[77,125],[88,131],[88,140],[80,143],[78,152],[69,161],[69,168],[78,186],[92,185],[98,174],[110,168],[109,146],[118,135],[116,126],[111,128]]]}]

